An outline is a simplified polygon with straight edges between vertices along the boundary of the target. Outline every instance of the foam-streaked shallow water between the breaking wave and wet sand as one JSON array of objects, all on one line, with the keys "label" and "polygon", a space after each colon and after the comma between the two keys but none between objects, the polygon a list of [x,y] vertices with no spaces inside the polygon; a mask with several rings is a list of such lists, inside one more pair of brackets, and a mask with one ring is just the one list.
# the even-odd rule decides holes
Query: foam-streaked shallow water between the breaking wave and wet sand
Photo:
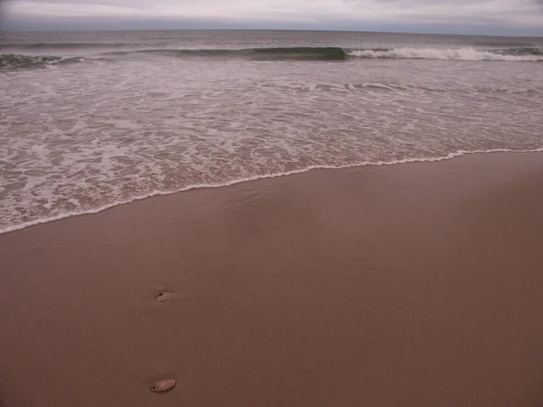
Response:
[{"label": "foam-streaked shallow water between the breaking wave and wet sand", "polygon": [[273,63],[173,59],[3,75],[0,232],[313,168],[543,147],[537,64],[365,65],[277,75]]}]

